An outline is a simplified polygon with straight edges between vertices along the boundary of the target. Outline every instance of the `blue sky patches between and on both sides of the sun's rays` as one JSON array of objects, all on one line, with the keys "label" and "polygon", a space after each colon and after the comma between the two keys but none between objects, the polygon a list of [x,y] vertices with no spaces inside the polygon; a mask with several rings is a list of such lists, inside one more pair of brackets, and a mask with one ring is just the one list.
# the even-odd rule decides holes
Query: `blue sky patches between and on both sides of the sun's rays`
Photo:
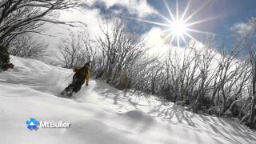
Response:
[{"label": "blue sky patches between and on both sides of the sun's rays", "polygon": [[[145,0],[148,6],[163,14],[167,18],[170,18],[170,14],[166,9],[166,6],[162,0]],[[131,9],[131,6],[125,4],[126,2],[132,2],[129,0],[120,0],[114,3],[107,1],[94,1],[93,5],[90,5],[90,9],[98,9],[101,11],[101,15],[104,17],[113,17],[118,11],[118,15],[122,16],[130,16],[133,18],[142,18],[146,20],[151,20],[154,22],[165,22],[164,19],[159,17],[158,15],[152,13],[146,14],[138,14],[142,13],[143,9],[137,10],[136,8]],[[138,6],[143,3],[143,0],[134,0],[134,2],[138,3]],[[166,0],[168,6],[170,6],[170,10],[175,14],[175,3],[176,0]],[[181,14],[187,5],[189,0],[178,0],[179,13]],[[186,16],[192,14],[195,10],[197,10],[200,6],[202,6],[206,0],[192,0],[190,3],[190,9],[188,10]],[[129,7],[130,6],[130,7]],[[145,7],[145,5],[143,5]],[[225,42],[227,46],[231,46],[230,37],[231,27],[235,24],[246,22],[248,19],[252,17],[256,17],[256,1],[255,0],[211,0],[209,4],[204,6],[202,10],[200,10],[197,14],[194,15],[193,18],[190,19],[190,22],[195,22],[198,20],[206,19],[206,18],[214,18],[208,22],[202,22],[198,25],[191,26],[191,28],[195,30],[201,30],[206,32],[211,32],[216,34],[215,39],[216,42]],[[142,7],[142,6],[141,6]],[[136,12],[134,12],[136,11]],[[136,20],[127,19],[130,22],[130,26],[138,26],[138,34],[146,33],[146,31],[150,30],[153,26],[152,24],[148,24],[145,22],[138,22]],[[159,26],[162,27],[162,26]],[[164,28],[164,27],[163,27]],[[207,38],[207,34],[197,34],[194,32],[190,32],[195,38],[199,41],[203,41]]]}]

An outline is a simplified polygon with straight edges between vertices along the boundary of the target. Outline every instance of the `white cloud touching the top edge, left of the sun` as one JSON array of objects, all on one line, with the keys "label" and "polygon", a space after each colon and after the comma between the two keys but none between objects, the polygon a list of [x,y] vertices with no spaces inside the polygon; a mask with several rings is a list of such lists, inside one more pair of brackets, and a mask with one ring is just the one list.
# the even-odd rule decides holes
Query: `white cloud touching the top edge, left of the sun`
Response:
[{"label": "white cloud touching the top edge, left of the sun", "polygon": [[96,2],[103,2],[107,9],[111,6],[124,6],[130,14],[137,14],[138,17],[146,17],[157,12],[146,0],[88,0],[86,4],[93,6]]}]

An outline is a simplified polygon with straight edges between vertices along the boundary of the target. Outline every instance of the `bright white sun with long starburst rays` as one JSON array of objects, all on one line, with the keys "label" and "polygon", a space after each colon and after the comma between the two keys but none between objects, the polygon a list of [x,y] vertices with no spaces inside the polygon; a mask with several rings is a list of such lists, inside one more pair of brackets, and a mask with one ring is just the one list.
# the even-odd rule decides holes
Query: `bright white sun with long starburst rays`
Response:
[{"label": "bright white sun with long starburst rays", "polygon": [[169,41],[170,39],[170,44],[174,45],[174,40],[176,39],[177,46],[180,46],[181,41],[186,44],[186,39],[193,39],[196,40],[191,33],[199,33],[199,34],[210,34],[210,35],[216,35],[214,33],[206,32],[206,31],[201,31],[201,30],[195,30],[191,29],[191,26],[201,24],[202,22],[208,22],[210,20],[213,20],[215,18],[206,18],[198,21],[192,21],[192,18],[194,17],[195,14],[198,14],[199,11],[201,11],[207,4],[210,3],[211,0],[205,1],[205,3],[202,4],[202,6],[198,6],[198,8],[191,14],[187,14],[187,11],[190,8],[190,3],[192,0],[189,0],[189,2],[186,5],[185,10],[183,11],[182,14],[179,14],[178,10],[178,0],[176,0],[176,13],[175,15],[173,12],[170,10],[170,7],[168,6],[166,0],[163,0],[166,9],[168,10],[170,14],[170,19],[166,18],[166,16],[160,14],[157,12],[158,16],[166,20],[165,23],[163,22],[154,22],[154,21],[149,21],[141,18],[131,18],[131,17],[124,17],[124,18],[130,18],[137,20],[139,22],[146,22],[158,26],[164,26],[166,27],[164,30],[162,30],[162,35],[163,36],[163,42],[166,42],[166,40]]}]

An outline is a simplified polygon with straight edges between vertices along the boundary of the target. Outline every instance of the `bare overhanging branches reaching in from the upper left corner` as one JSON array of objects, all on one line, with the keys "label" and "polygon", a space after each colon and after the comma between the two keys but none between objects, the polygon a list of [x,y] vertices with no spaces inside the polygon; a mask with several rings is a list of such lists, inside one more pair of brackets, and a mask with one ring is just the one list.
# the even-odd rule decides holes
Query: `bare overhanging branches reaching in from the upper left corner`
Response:
[{"label": "bare overhanging branches reaching in from the upper left corner", "polygon": [[78,4],[78,0],[2,0],[0,2],[0,43],[8,45],[18,34],[40,33],[39,28],[44,22],[74,26],[72,22],[60,22],[50,17],[50,14],[54,10],[69,9]]}]

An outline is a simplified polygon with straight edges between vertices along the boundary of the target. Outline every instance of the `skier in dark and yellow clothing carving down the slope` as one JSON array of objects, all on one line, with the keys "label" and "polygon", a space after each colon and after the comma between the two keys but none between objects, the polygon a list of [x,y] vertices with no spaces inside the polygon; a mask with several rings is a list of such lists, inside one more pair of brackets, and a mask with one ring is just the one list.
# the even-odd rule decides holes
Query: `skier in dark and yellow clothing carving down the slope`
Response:
[{"label": "skier in dark and yellow clothing carving down the slope", "polygon": [[89,85],[89,79],[90,79],[90,63],[86,62],[86,64],[82,67],[74,67],[74,76],[72,83],[66,87],[65,90],[62,91],[62,95],[72,96],[72,93],[77,93],[82,85],[86,81],[86,86]]}]

